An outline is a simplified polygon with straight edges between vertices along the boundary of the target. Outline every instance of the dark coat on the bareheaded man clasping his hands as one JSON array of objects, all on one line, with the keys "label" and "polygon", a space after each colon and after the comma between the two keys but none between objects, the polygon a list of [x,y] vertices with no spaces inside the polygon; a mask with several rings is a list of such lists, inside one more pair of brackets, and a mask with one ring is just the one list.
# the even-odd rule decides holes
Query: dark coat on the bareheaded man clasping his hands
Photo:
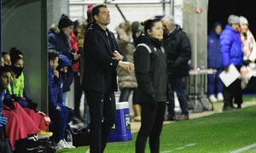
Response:
[{"label": "dark coat on the bareheaded man clasping his hands", "polygon": [[108,29],[104,31],[93,22],[84,39],[84,90],[102,93],[117,91],[116,68],[119,61],[113,59],[113,51],[119,51],[119,48],[113,33]]}]

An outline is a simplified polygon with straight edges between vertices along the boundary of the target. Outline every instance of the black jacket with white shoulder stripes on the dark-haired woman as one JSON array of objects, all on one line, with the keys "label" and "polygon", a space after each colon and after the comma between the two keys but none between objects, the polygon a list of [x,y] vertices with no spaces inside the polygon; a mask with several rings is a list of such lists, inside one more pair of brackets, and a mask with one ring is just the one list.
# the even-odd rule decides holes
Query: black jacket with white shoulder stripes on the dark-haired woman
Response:
[{"label": "black jacket with white shoulder stripes on the dark-haired woman", "polygon": [[137,100],[166,102],[171,89],[168,83],[166,52],[160,42],[148,35],[140,35],[134,52],[137,77]]}]

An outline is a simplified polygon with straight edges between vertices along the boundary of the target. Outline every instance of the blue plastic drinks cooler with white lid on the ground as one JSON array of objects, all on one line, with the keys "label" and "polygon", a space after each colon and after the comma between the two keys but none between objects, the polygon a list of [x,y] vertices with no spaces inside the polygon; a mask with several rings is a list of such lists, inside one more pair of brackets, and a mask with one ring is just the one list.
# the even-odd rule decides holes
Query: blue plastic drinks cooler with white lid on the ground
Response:
[{"label": "blue plastic drinks cooler with white lid on the ground", "polygon": [[128,102],[116,103],[116,122],[109,134],[108,142],[128,141],[132,139],[131,118]]}]

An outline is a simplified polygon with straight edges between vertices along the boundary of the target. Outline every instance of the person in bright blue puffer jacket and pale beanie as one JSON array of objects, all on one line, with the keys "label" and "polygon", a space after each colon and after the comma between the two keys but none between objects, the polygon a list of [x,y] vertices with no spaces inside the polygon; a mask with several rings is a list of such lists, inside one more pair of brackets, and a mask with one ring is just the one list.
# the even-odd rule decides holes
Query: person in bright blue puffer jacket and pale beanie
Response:
[{"label": "person in bright blue puffer jacket and pale beanie", "polygon": [[[240,71],[243,63],[243,53],[241,50],[241,38],[239,37],[239,17],[231,14],[228,19],[228,25],[220,35],[220,49],[222,54],[222,63],[224,71],[229,71],[230,65],[236,66]],[[242,91],[241,79],[236,79],[230,86],[224,86],[224,107],[223,110],[233,109],[233,99],[237,104],[237,108],[241,108]]]}]

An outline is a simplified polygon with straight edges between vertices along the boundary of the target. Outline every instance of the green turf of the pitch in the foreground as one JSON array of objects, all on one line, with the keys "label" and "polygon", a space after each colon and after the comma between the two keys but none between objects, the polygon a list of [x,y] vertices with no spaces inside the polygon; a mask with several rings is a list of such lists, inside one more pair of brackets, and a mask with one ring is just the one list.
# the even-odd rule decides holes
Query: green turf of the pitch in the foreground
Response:
[{"label": "green turf of the pitch in the foreground", "polygon": [[[254,103],[254,102],[253,102]],[[256,152],[256,105],[240,110],[224,111],[189,121],[165,124],[160,137],[160,152],[232,152],[247,147],[243,152]],[[135,139],[108,143],[106,153],[133,153]],[[253,144],[253,147],[248,147]],[[255,146],[254,146],[255,145]],[[146,152],[150,152],[148,149]],[[58,153],[84,153],[89,146]]]}]

